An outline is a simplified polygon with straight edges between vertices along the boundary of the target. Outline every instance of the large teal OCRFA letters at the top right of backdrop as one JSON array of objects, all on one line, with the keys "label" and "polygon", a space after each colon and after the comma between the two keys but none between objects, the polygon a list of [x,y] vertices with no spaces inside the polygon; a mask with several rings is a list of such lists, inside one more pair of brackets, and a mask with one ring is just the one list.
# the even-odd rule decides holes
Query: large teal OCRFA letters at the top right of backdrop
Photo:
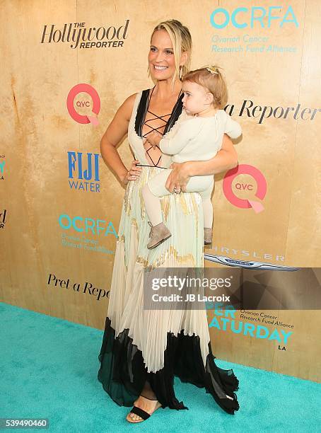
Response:
[{"label": "large teal OCRFA letters at the top right of backdrop", "polygon": [[[275,9],[279,12],[275,12]],[[291,24],[298,27],[298,20],[292,6],[252,6],[252,8],[236,8],[232,13],[225,8],[216,8],[210,17],[211,25],[221,29],[231,23],[235,28],[253,28],[260,25],[262,28],[271,28],[272,25],[283,27],[284,24]],[[277,22],[276,22],[277,21]],[[259,23],[259,24],[258,24]]]}]

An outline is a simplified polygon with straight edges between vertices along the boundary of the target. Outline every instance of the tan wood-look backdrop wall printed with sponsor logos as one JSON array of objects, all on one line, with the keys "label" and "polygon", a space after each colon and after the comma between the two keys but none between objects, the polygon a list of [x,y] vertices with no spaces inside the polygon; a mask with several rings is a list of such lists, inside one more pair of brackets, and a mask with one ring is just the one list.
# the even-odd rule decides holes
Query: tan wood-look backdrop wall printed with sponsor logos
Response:
[{"label": "tan wood-look backdrop wall printed with sponsor logos", "polygon": [[[0,11],[1,301],[103,329],[124,189],[100,139],[119,105],[153,86],[150,36],[170,18],[192,34],[192,69],[223,68],[226,112],[243,128],[238,168],[216,176],[206,267],[320,266],[320,1],[29,0]],[[129,167],[127,139],[118,150]],[[216,357],[320,380],[317,303],[224,317],[208,310]]]}]

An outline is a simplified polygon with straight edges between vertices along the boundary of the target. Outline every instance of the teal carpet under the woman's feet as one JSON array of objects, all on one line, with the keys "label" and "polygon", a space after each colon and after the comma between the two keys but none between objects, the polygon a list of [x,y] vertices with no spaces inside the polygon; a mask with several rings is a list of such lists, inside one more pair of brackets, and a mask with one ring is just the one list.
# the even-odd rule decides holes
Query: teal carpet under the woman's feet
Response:
[{"label": "teal carpet under the woman's feet", "polygon": [[0,319],[2,418],[45,417],[49,431],[75,433],[321,431],[320,384],[221,360],[240,381],[235,415],[204,388],[175,378],[176,397],[189,410],[158,409],[131,425],[129,408],[117,406],[97,379],[102,331],[1,303]]}]

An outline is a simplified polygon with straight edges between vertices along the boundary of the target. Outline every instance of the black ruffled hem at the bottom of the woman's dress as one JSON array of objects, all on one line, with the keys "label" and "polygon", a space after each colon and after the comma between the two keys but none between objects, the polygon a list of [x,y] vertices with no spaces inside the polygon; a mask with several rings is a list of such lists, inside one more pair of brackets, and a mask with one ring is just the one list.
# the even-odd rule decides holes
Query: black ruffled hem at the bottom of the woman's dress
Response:
[{"label": "black ruffled hem at the bottom of the woman's dress", "polygon": [[[232,369],[224,370],[216,366],[210,343],[204,368],[199,336],[184,335],[183,330],[177,336],[168,332],[164,367],[156,373],[148,373],[141,350],[132,344],[128,332],[125,329],[115,338],[115,330],[107,317],[98,355],[98,380],[117,405],[132,406],[147,380],[163,408],[188,409],[175,397],[174,376],[178,376],[182,382],[205,388],[206,393],[211,393],[226,412],[234,414],[239,409],[235,394],[238,391],[238,379]],[[226,398],[226,395],[233,400]]]}]

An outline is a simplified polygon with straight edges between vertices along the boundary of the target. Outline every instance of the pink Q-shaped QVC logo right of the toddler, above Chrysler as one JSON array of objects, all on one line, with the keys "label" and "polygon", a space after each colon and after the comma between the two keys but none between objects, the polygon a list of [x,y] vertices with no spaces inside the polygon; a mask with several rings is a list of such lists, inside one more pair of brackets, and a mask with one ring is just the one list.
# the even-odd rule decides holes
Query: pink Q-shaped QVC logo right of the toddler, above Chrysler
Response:
[{"label": "pink Q-shaped QVC logo right of the toddler, above Chrysler", "polygon": [[[257,183],[257,191],[255,192],[255,197],[263,200],[265,195],[267,194],[267,181],[264,178],[264,175],[255,167],[249,166],[247,164],[241,164],[232,170],[229,170],[228,173],[224,176],[223,179],[223,192],[228,201],[236,207],[240,207],[241,209],[248,209],[252,207],[256,213],[262,212],[264,209],[261,202],[257,202],[255,200],[245,200],[237,197],[232,190],[232,183],[236,176],[240,174],[247,174],[252,176],[256,180]],[[243,183],[239,183],[236,186],[238,190],[248,190],[252,191],[252,185],[247,185]]]}]

